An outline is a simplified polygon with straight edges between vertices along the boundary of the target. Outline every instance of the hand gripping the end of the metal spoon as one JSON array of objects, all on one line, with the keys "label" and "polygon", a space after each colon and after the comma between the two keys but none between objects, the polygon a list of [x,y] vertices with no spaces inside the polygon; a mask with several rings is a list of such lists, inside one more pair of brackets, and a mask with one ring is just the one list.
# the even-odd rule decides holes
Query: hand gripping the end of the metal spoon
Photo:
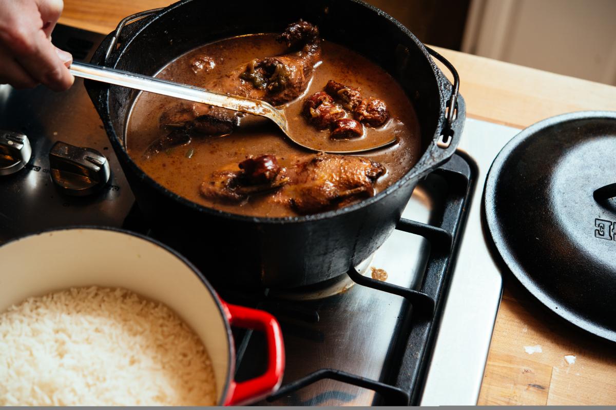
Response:
[{"label": "hand gripping the end of the metal spoon", "polygon": [[51,44],[63,6],[62,0],[0,0],[0,84],[70,88],[73,56]]}]

